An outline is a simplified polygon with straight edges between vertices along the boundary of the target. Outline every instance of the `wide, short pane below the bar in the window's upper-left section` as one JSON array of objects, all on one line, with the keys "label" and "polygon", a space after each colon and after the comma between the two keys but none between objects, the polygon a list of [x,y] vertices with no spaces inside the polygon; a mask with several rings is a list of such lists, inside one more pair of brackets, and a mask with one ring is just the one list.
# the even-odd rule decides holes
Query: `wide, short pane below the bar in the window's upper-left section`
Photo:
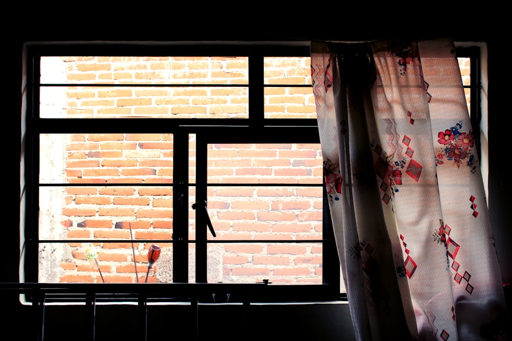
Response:
[{"label": "wide, short pane below the bar in the window's upper-left section", "polygon": [[247,118],[248,87],[42,86],[41,118]]}]

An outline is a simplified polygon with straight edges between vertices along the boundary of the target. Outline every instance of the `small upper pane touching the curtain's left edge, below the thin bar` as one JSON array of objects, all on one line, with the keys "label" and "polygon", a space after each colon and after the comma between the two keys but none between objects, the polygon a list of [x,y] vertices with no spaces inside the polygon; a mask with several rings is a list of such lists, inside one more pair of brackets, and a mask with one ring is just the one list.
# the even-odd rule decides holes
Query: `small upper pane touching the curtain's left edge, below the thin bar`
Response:
[{"label": "small upper pane touching the curtain's left edge, below the thin bar", "polygon": [[265,87],[266,119],[316,119],[312,87]]}]

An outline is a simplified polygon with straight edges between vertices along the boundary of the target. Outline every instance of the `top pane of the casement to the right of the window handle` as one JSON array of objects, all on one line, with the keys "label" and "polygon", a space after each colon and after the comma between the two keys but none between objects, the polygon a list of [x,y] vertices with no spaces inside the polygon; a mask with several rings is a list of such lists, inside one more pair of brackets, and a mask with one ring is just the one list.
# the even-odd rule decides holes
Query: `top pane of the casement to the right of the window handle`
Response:
[{"label": "top pane of the casement to the right of the window handle", "polygon": [[209,184],[322,184],[320,144],[209,144]]}]

